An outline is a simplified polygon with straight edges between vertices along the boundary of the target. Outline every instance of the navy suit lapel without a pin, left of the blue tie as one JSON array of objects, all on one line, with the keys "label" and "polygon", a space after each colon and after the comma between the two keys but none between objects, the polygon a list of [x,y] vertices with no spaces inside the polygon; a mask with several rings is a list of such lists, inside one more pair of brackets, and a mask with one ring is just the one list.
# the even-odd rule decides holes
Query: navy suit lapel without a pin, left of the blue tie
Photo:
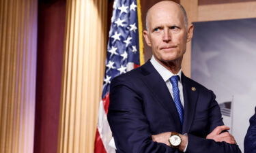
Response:
[{"label": "navy suit lapel without a pin, left of the blue tie", "polygon": [[160,105],[162,105],[162,107],[169,112],[170,116],[173,117],[172,120],[177,121],[178,124],[176,127],[177,130],[180,131],[182,129],[180,118],[165,81],[150,61],[147,61],[147,63],[142,66],[142,71],[145,76],[143,78],[143,82],[148,88],[150,88],[152,94],[154,94],[154,97],[156,97]]}]

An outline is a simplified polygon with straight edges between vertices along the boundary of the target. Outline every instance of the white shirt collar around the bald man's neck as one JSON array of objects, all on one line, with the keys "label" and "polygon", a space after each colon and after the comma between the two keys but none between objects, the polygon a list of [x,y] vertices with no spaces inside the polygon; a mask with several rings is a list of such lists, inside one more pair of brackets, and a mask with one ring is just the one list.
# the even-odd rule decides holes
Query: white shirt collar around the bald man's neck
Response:
[{"label": "white shirt collar around the bald man's neck", "polygon": [[162,66],[158,61],[156,61],[156,58],[154,57],[154,55],[152,55],[150,62],[152,63],[152,65],[156,69],[156,71],[158,71],[158,73],[161,75],[162,79],[165,80],[165,82],[167,82],[173,75],[179,75],[180,80],[181,80],[182,69],[180,69],[180,71],[177,74],[173,74],[167,68]]}]

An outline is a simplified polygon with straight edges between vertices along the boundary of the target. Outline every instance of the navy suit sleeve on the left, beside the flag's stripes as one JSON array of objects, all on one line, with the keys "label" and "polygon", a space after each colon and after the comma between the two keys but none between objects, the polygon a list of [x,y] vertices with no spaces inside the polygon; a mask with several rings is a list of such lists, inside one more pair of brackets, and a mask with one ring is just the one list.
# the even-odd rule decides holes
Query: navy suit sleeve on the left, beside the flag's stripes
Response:
[{"label": "navy suit sleeve on the left, beside the flag's stripes", "polygon": [[[143,101],[124,80],[111,82],[108,121],[117,152],[172,153],[176,150],[152,141],[150,126],[143,112]],[[120,83],[122,82],[122,83]]]}]

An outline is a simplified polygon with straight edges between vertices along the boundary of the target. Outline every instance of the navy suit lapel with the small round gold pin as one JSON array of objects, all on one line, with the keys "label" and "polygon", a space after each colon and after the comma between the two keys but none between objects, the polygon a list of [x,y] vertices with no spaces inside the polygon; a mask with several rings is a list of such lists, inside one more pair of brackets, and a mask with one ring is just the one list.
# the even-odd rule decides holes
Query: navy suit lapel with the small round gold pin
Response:
[{"label": "navy suit lapel with the small round gold pin", "polygon": [[199,88],[182,73],[182,86],[184,95],[184,123],[182,133],[188,133],[193,123]]}]

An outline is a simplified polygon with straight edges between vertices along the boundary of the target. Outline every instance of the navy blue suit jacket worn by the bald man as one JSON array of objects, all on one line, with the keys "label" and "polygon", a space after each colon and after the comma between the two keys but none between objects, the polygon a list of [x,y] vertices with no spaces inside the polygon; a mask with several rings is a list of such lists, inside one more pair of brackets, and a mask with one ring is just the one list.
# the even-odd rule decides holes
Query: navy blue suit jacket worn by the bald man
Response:
[{"label": "navy blue suit jacket worn by the bald man", "polygon": [[182,86],[183,126],[165,81],[150,61],[112,80],[108,120],[117,152],[178,152],[152,141],[152,135],[170,131],[188,133],[186,152],[240,152],[237,145],[205,139],[216,126],[223,125],[214,93],[183,73]]}]

